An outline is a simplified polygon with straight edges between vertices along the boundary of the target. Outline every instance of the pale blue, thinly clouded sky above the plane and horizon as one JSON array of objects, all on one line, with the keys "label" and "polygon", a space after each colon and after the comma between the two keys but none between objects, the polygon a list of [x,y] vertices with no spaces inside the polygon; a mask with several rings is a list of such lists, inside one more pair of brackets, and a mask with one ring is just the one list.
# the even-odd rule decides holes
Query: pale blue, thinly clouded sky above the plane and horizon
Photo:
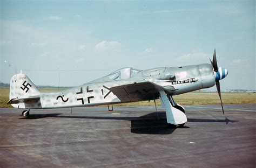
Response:
[{"label": "pale blue, thinly clouded sky above the plane and horizon", "polygon": [[[122,67],[210,63],[255,89],[255,1],[0,1],[0,81],[78,86]],[[46,71],[41,71],[46,70]],[[71,71],[72,70],[72,71]],[[92,71],[80,71],[92,70]],[[215,88],[215,87],[214,87]]]}]

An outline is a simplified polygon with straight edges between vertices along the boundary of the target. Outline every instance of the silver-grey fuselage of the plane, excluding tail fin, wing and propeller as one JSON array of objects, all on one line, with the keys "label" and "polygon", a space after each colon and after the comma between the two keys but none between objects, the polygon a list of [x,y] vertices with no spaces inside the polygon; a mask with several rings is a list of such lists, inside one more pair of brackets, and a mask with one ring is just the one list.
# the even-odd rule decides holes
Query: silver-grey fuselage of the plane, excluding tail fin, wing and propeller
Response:
[{"label": "silver-grey fuselage of the plane, excluding tail fin, wing and propeller", "polygon": [[[25,103],[25,108],[80,107],[143,101],[141,99],[121,101],[109,90],[112,87],[141,80],[150,81],[172,90],[169,93],[170,95],[183,94],[215,85],[215,76],[210,64],[153,68],[138,71],[136,74],[130,74],[130,76],[124,75],[124,78],[118,76],[122,75],[123,70],[119,69],[119,71],[84,85],[63,90],[62,92],[41,93],[39,101]],[[114,74],[117,74],[117,77]],[[114,79],[112,78],[113,76]],[[156,95],[154,98],[158,99],[159,95]],[[145,98],[145,100],[149,99]]]}]

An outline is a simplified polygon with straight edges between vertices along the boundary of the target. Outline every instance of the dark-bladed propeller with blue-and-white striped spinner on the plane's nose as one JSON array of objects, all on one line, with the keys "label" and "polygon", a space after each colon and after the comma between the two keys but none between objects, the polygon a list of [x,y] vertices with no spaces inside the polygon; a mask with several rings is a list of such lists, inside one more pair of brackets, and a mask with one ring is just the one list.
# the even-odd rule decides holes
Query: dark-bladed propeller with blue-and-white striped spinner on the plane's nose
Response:
[{"label": "dark-bladed propeller with blue-and-white striped spinner on the plane's nose", "polygon": [[223,111],[223,115],[225,115],[224,114],[223,103],[222,103],[222,100],[221,100],[220,82],[219,81],[221,79],[224,79],[227,76],[228,72],[227,72],[227,69],[222,68],[222,67],[218,67],[215,48],[214,48],[213,58],[212,58],[212,60],[210,59],[210,61],[212,63],[212,67],[213,67],[213,71],[214,71],[214,75],[215,75],[215,82],[216,82],[217,91],[218,91],[218,94],[219,94],[219,97],[220,97],[221,108],[222,108],[222,111]]}]

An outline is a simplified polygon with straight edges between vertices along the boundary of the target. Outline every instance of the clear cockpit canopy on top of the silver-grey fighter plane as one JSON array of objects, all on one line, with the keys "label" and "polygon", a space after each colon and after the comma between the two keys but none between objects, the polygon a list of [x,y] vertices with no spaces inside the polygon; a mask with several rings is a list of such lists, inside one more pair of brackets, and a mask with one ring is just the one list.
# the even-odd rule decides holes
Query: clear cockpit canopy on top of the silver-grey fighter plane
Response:
[{"label": "clear cockpit canopy on top of the silver-grey fighter plane", "polygon": [[132,78],[132,76],[136,75],[142,70],[127,67],[118,69],[117,71],[112,72],[109,75],[103,76],[102,78],[93,80],[89,83],[96,83],[96,82],[105,82],[105,81],[113,81],[113,80],[120,80],[120,79],[129,79]]}]

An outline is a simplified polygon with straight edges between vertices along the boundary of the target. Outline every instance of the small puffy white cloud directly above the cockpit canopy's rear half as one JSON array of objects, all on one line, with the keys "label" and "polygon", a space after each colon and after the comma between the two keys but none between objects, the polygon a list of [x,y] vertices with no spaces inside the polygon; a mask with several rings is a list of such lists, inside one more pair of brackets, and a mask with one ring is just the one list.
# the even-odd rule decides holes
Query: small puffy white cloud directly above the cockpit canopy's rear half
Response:
[{"label": "small puffy white cloud directly above the cockpit canopy's rear half", "polygon": [[118,41],[102,41],[95,46],[95,51],[116,51],[120,46],[121,44]]}]

